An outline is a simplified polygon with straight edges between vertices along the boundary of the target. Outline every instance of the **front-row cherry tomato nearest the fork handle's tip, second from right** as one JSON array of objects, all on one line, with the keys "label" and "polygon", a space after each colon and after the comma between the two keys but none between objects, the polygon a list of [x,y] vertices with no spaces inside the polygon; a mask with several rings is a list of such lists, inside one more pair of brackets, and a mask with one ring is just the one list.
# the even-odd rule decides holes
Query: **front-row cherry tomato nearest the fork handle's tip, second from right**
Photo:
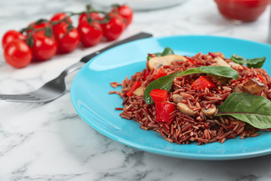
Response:
[{"label": "front-row cherry tomato nearest the fork handle's tip, second from right", "polygon": [[108,41],[117,40],[125,29],[125,23],[120,15],[109,13],[110,20],[106,24],[102,24],[104,37]]}]

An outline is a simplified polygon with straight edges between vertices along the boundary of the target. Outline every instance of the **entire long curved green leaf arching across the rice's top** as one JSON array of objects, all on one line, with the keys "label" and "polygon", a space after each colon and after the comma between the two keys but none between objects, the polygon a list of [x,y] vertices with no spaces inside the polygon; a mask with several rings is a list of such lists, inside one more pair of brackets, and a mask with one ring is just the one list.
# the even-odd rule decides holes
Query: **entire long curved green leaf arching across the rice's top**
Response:
[{"label": "entire long curved green leaf arching across the rice's top", "polygon": [[151,96],[149,95],[149,93],[151,93],[153,89],[164,89],[167,90],[168,93],[170,91],[170,88],[172,87],[172,83],[175,77],[180,77],[185,74],[197,74],[197,73],[215,74],[221,77],[229,77],[232,79],[238,79],[239,77],[239,74],[236,70],[224,66],[202,66],[199,68],[190,68],[183,72],[177,71],[174,74],[160,77],[159,79],[152,81],[145,89],[145,93],[143,95],[145,102],[147,104],[154,103],[151,99]]}]

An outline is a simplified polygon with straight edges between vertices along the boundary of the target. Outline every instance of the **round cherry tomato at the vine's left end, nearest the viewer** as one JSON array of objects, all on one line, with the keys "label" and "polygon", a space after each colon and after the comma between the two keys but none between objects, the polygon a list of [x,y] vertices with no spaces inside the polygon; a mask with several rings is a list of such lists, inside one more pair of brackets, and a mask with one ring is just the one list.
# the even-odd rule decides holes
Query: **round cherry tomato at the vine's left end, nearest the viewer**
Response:
[{"label": "round cherry tomato at the vine's left end, nearest the viewer", "polygon": [[23,40],[9,42],[3,51],[3,56],[9,65],[15,68],[24,68],[32,60],[31,49]]}]

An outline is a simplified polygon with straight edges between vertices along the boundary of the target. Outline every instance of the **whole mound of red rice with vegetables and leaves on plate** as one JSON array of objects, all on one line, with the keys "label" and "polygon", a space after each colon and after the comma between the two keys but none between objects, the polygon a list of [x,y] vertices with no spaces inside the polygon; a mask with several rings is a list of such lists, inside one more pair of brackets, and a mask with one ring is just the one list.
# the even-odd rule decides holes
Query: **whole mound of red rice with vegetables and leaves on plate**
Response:
[{"label": "whole mound of red rice with vegetables and leaves on plate", "polygon": [[[179,56],[170,48],[149,54],[146,68],[110,91],[123,98],[120,116],[170,143],[223,143],[258,136],[270,125],[271,81],[265,58],[222,53]],[[241,65],[243,64],[243,65]],[[261,104],[258,104],[261,102]]]}]

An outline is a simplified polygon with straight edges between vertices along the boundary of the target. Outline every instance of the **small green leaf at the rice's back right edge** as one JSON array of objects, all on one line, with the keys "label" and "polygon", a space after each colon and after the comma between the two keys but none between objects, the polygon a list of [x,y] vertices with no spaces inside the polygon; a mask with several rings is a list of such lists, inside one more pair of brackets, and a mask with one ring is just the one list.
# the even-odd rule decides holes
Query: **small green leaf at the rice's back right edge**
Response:
[{"label": "small green leaf at the rice's back right edge", "polygon": [[231,61],[240,65],[245,64],[248,68],[261,68],[263,66],[263,63],[265,63],[265,59],[265,56],[253,59],[244,58],[243,56],[238,56],[236,54],[233,54],[231,56]]}]

